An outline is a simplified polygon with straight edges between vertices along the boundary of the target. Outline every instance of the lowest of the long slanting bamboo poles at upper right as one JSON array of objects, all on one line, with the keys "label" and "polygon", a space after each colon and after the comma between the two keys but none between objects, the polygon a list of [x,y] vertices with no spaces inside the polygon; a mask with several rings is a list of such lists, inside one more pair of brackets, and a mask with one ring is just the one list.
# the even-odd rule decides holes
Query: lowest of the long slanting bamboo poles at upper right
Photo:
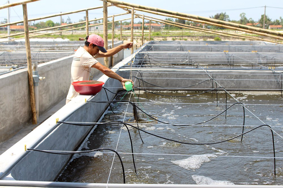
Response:
[{"label": "lowest of the long slanting bamboo poles at upper right", "polygon": [[[139,18],[141,18],[141,16],[144,16],[144,15],[141,15],[141,14],[136,14],[136,15],[138,15]],[[150,16],[146,16],[146,17],[147,18],[153,18],[153,17],[150,17]],[[201,30],[205,30],[205,31],[212,31],[212,32],[220,33],[220,34],[225,34],[225,33],[221,32],[221,31],[217,31],[217,30],[199,28],[199,27],[195,27],[195,26],[190,26],[190,25],[186,25],[186,24],[180,24],[180,23],[172,22],[172,21],[169,21],[169,20],[158,19],[158,18],[153,18],[153,19],[156,19],[157,21],[160,20],[160,21],[169,22],[169,23],[172,23],[172,24],[182,25],[182,26],[185,26],[185,27],[188,27],[188,28],[195,28],[195,29],[201,29]],[[272,40],[267,40],[267,39],[260,39],[260,38],[252,37],[252,36],[244,36],[244,35],[240,35],[240,34],[231,34],[231,33],[227,33],[227,34],[234,35],[234,36],[239,36],[239,37],[247,37],[247,38],[250,38],[251,40],[263,40],[263,41],[267,41],[267,42],[283,44],[283,43],[280,43],[280,42],[277,42],[277,41],[272,41]]]}]

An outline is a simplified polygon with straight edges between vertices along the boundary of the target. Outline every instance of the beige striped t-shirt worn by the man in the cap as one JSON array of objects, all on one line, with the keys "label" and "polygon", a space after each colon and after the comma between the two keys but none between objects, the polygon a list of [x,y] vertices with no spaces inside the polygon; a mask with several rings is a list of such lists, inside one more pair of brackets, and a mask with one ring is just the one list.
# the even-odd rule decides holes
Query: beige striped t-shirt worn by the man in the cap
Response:
[{"label": "beige striped t-shirt worn by the man in the cap", "polygon": [[[92,65],[98,63],[98,61],[94,59],[97,55],[93,57],[82,47],[75,52],[71,65],[71,82],[89,80]],[[67,100],[72,100],[77,95],[78,93],[71,84]]]}]

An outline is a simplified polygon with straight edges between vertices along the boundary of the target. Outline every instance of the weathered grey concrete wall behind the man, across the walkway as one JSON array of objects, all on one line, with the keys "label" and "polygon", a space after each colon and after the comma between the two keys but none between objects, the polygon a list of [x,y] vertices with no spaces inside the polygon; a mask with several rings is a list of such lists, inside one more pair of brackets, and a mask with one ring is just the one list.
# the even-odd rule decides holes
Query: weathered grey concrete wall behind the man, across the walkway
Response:
[{"label": "weathered grey concrete wall behind the man, across the walkway", "polygon": [[[122,42],[121,42],[122,43]],[[119,43],[115,44],[119,45]],[[123,59],[123,50],[114,58],[114,63]],[[38,73],[45,80],[39,83],[39,115],[62,101],[71,84],[73,57],[65,57],[38,65]],[[103,58],[97,60],[104,65]],[[108,58],[111,62],[111,57]],[[100,71],[92,69],[91,78]],[[14,136],[31,121],[27,69],[17,70],[0,76],[0,143]]]}]

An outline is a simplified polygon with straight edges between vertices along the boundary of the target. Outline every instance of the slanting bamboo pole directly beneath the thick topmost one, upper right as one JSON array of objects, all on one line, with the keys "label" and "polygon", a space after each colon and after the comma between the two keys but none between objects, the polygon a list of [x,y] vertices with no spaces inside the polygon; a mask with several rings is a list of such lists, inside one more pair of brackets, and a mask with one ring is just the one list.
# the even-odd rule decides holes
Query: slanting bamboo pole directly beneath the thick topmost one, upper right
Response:
[{"label": "slanting bamboo pole directly beneath the thick topmost one, upper right", "polygon": [[[117,7],[119,7],[119,8],[130,8],[129,6],[123,6],[123,5],[117,5]],[[171,17],[171,18],[180,18],[180,19],[188,20],[188,21],[192,21],[192,22],[214,25],[214,26],[217,26],[217,27],[223,27],[223,28],[227,28],[227,29],[239,30],[239,31],[247,32],[247,33],[258,34],[258,35],[262,35],[262,36],[266,36],[266,37],[271,37],[271,38],[274,38],[274,39],[283,40],[283,37],[275,36],[275,35],[272,35],[272,34],[266,34],[266,33],[262,33],[262,32],[257,32],[257,31],[251,31],[251,30],[248,30],[248,29],[235,28],[235,27],[231,27],[231,26],[215,24],[215,23],[212,23],[212,22],[202,21],[202,20],[198,20],[198,19],[185,18],[185,17],[175,16],[175,15],[167,14],[167,13],[158,13],[158,12],[154,12],[154,11],[150,11],[150,10],[144,10],[144,9],[140,9],[140,8],[136,8],[136,10],[147,12],[147,13],[152,13],[152,14],[156,14],[156,15],[167,16],[167,17]]]}]

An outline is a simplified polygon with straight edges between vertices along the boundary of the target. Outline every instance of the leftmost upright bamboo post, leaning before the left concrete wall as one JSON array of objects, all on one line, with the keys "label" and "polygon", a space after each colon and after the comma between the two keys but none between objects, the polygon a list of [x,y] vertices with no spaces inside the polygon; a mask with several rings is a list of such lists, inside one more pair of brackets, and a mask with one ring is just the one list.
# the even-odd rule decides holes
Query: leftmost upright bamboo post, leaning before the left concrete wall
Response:
[{"label": "leftmost upright bamboo post, leaning before the left concrete wall", "polygon": [[28,79],[29,79],[29,89],[30,89],[32,124],[36,124],[37,123],[36,105],[35,105],[33,78],[32,78],[31,46],[30,46],[30,38],[29,38],[29,25],[28,25],[26,4],[23,4],[23,12],[24,12],[24,29],[25,29],[25,50],[26,50],[26,60],[27,60],[27,65],[28,65]]}]

